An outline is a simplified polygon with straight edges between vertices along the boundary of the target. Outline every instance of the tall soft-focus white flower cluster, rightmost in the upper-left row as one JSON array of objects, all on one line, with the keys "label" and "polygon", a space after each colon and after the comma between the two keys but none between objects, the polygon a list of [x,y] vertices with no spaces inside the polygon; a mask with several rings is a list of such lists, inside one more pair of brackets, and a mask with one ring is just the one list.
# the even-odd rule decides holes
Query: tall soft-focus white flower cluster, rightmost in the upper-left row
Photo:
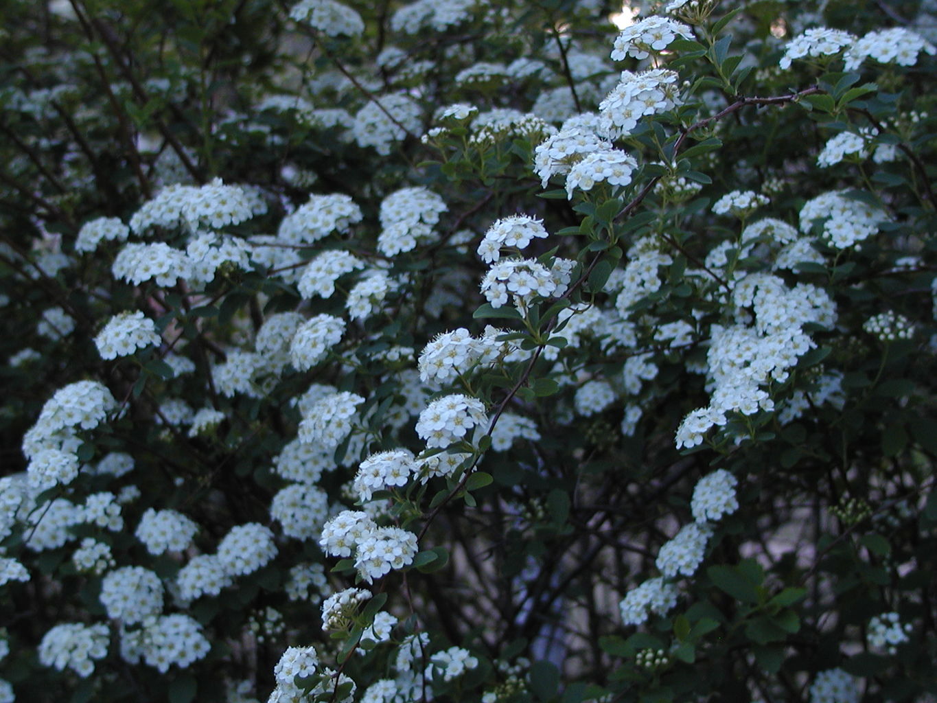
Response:
[{"label": "tall soft-focus white flower cluster, rightmost in the upper-left row", "polygon": [[391,193],[380,203],[378,251],[394,256],[433,241],[433,228],[447,209],[442,198],[429,188],[406,187]]}]

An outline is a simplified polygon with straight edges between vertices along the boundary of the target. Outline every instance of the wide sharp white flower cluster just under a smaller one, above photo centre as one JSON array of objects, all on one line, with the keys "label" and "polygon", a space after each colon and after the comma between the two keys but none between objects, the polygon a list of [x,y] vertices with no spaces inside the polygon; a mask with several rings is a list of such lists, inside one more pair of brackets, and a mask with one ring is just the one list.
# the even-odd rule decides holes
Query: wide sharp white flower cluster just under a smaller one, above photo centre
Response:
[{"label": "wide sharp white flower cluster just under a smaller one, above photo centre", "polygon": [[491,307],[501,307],[512,298],[513,306],[523,312],[534,297],[558,297],[570,283],[573,263],[554,260],[551,268],[534,259],[501,259],[485,273],[482,294]]}]

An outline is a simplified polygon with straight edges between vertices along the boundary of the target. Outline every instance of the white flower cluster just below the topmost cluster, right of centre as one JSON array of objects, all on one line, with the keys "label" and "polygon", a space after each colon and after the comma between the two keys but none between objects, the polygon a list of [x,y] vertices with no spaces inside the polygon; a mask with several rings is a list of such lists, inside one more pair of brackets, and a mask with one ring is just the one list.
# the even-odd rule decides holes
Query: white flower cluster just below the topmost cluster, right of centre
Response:
[{"label": "white flower cluster just below the topmost cluster, right of centre", "polygon": [[677,105],[678,86],[677,72],[666,68],[622,71],[618,84],[599,104],[602,132],[613,139],[624,137],[642,117],[672,110]]}]

